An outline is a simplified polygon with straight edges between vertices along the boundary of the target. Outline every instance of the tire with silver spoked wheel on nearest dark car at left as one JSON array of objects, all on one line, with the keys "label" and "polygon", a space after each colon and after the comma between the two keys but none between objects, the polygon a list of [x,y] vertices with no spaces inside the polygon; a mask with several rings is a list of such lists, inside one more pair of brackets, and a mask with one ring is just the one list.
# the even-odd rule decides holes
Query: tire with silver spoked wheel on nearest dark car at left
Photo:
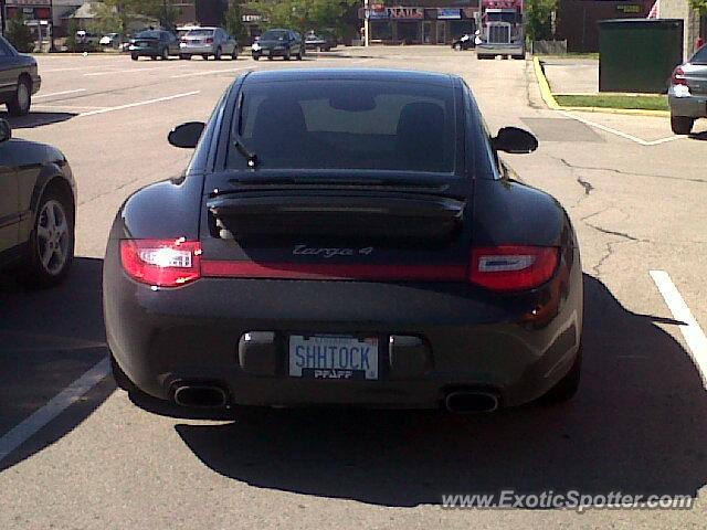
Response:
[{"label": "tire with silver spoked wheel on nearest dark car at left", "polygon": [[24,279],[36,287],[60,284],[68,274],[74,259],[74,209],[71,197],[61,188],[50,184],[36,209]]}]

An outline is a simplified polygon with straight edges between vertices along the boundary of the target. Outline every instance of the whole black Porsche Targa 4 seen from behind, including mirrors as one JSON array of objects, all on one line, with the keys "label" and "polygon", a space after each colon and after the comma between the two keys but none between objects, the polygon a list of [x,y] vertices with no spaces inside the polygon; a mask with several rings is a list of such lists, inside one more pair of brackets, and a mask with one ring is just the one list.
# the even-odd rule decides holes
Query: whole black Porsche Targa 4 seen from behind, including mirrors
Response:
[{"label": "whole black Porsche Targa 4 seen from behind, including mirrors", "polygon": [[186,407],[568,400],[582,272],[567,213],[514,181],[456,76],[241,75],[180,178],[120,208],[104,308],[120,386]]}]

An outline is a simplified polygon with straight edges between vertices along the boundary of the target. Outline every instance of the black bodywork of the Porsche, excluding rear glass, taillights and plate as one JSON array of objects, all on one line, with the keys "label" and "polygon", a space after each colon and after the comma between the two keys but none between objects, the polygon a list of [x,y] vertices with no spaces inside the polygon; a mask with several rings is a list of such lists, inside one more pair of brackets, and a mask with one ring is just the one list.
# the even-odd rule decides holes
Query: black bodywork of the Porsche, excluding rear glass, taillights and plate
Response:
[{"label": "black bodywork of the Porsche, excluding rear glass, taillights and plate", "polygon": [[[243,91],[250,83],[295,76],[452,91],[461,124],[454,144],[458,163],[452,173],[435,174],[253,169],[233,161]],[[163,400],[173,400],[181,384],[203,383],[223,389],[238,404],[436,407],[455,389],[492,392],[505,406],[532,401],[577,359],[582,269],[562,206],[503,174],[476,104],[456,77],[338,70],[243,75],[218,104],[186,176],[138,191],[116,218],[104,265],[104,310],[117,365],[140,391]],[[361,208],[366,199],[370,211]],[[321,218],[308,224],[313,212]],[[395,225],[404,233],[386,230],[394,224],[387,215],[399,220],[410,212],[447,223],[449,230],[431,233],[414,221],[407,232]],[[380,218],[370,222],[367,215],[373,214]],[[347,232],[345,223],[337,224],[341,219],[366,230]],[[299,230],[292,230],[293,223]],[[422,237],[415,239],[418,232]],[[136,282],[124,269],[122,240],[182,237],[200,242],[200,279],[161,288]],[[471,250],[497,245],[558,248],[559,262],[545,283],[523,292],[496,293],[469,283]],[[267,269],[273,263],[284,274],[213,272],[243,265]],[[333,273],[299,275],[323,267]],[[423,269],[434,278],[348,276],[349,269],[391,267]],[[302,335],[377,339],[379,380],[291,377],[287,343]],[[249,350],[244,340],[253,337],[263,342]],[[398,346],[405,341],[416,346]]]}]

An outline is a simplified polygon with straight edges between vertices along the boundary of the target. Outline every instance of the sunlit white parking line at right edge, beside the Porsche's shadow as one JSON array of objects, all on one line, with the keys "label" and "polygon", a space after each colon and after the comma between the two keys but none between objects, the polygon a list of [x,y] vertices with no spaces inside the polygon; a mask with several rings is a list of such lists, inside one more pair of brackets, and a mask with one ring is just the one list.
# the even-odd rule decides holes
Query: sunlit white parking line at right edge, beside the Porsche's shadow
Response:
[{"label": "sunlit white parking line at right edge, beside the Porsche's shadow", "polygon": [[679,328],[690,350],[693,362],[699,371],[703,385],[707,389],[707,337],[705,337],[703,328],[699,327],[693,311],[689,310],[683,296],[665,271],[651,271],[651,277],[653,282],[655,282],[655,285],[657,285],[673,317],[676,320],[685,322],[680,325]]}]

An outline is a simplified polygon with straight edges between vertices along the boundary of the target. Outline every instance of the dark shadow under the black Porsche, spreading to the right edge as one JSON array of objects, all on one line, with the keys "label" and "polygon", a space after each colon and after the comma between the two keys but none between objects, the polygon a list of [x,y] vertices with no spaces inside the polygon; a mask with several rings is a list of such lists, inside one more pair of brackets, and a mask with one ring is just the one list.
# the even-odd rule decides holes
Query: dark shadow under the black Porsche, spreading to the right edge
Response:
[{"label": "dark shadow under the black Porsche, spreading to the right edge", "polygon": [[[214,471],[374,505],[446,494],[689,495],[707,483],[707,402],[688,353],[584,276],[584,370],[570,403],[495,415],[272,411],[176,426]],[[667,312],[667,309],[665,310]]]}]

